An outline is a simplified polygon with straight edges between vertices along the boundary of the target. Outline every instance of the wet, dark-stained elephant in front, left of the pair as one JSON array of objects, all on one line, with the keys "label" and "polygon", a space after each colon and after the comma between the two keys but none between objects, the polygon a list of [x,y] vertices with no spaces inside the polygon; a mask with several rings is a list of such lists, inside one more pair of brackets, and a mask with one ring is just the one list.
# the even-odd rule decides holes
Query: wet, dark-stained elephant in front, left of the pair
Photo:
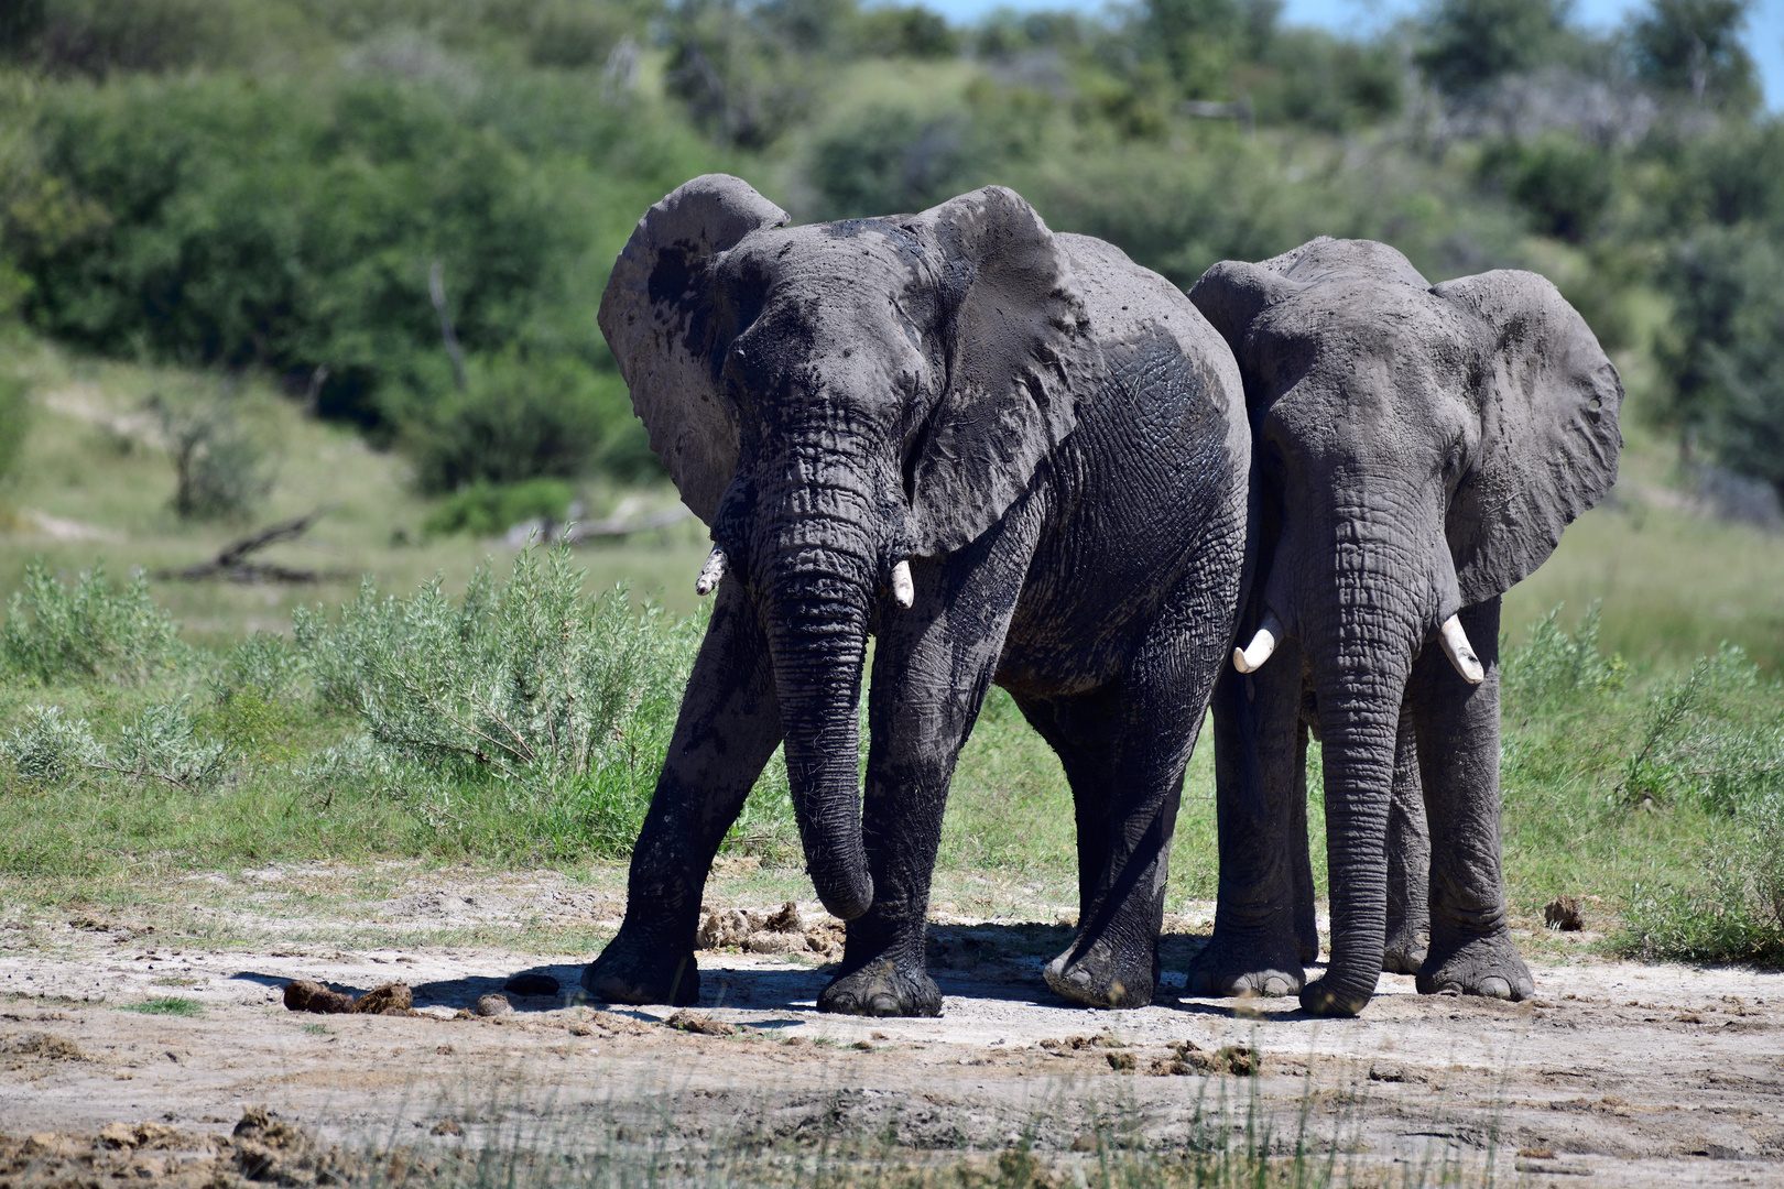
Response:
[{"label": "wet, dark-stained elephant in front, left of the pair", "polygon": [[1006,189],[785,225],[744,182],[696,178],[644,216],[601,301],[651,446],[730,569],[626,920],[583,986],[696,1002],[706,872],[785,740],[806,870],[847,922],[819,1007],[938,1014],[929,875],[995,681],[1076,797],[1083,913],[1045,979],[1079,1004],[1145,1004],[1183,768],[1240,588],[1251,435],[1231,353],[1169,282],[1053,235]]}]

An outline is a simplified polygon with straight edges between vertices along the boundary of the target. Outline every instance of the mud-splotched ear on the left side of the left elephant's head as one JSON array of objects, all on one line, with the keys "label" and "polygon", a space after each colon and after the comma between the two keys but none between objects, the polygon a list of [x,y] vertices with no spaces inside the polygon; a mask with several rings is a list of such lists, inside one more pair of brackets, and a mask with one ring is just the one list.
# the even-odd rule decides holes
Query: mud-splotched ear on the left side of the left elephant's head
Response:
[{"label": "mud-splotched ear on the left side of the left elephant's head", "polygon": [[737,474],[737,421],[721,369],[733,326],[714,258],[789,216],[747,182],[708,173],[644,212],[601,294],[601,333],[632,408],[681,501],[706,524]]}]

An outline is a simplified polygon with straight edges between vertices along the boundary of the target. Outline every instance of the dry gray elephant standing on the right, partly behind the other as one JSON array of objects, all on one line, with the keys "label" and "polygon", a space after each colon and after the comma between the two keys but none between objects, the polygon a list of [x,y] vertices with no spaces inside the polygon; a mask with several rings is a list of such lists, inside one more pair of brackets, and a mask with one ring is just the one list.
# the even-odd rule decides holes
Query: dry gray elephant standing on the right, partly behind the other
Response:
[{"label": "dry gray elephant standing on the right, partly behind the other", "polygon": [[[1267,608],[1284,638],[1215,690],[1220,902],[1188,989],[1356,1014],[1388,968],[1424,993],[1525,998],[1500,879],[1499,599],[1615,481],[1616,369],[1541,276],[1431,285],[1368,241],[1217,264],[1190,299],[1233,346],[1252,421],[1238,638]],[[1436,638],[1458,611],[1481,685]],[[1302,988],[1309,727],[1333,931]]]}]

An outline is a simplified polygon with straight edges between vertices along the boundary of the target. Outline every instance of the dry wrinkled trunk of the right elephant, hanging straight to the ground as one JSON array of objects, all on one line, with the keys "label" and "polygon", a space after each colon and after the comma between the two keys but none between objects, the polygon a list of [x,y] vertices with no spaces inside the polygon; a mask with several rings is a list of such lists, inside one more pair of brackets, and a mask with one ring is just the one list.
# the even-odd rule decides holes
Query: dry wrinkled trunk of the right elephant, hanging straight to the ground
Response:
[{"label": "dry wrinkled trunk of the right elephant, hanging straight to the ground", "polygon": [[1331,526],[1329,585],[1302,590],[1315,597],[1302,597],[1297,613],[1320,718],[1333,931],[1327,973],[1301,998],[1309,1011],[1342,1016],[1368,1004],[1381,973],[1400,701],[1434,603],[1408,588],[1406,537],[1368,524]]}]

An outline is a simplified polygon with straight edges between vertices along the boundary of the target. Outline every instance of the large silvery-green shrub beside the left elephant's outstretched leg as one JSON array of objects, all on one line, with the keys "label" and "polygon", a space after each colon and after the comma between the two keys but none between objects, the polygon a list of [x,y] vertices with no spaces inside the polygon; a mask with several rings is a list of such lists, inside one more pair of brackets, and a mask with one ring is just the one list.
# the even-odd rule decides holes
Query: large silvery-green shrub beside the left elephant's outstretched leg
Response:
[{"label": "large silvery-green shrub beside the left elephant's outstretched leg", "polygon": [[[528,549],[505,586],[480,572],[460,603],[439,581],[407,599],[368,583],[339,626],[298,617],[318,697],[355,709],[371,743],[319,761],[309,779],[373,763],[396,784],[432,772],[458,797],[475,800],[482,786],[532,815],[541,832],[532,845],[624,854],[662,770],[703,620],[635,613],[624,590],[587,599],[583,581],[567,549]],[[785,777],[774,783],[769,804],[733,836],[789,816]]]}]

